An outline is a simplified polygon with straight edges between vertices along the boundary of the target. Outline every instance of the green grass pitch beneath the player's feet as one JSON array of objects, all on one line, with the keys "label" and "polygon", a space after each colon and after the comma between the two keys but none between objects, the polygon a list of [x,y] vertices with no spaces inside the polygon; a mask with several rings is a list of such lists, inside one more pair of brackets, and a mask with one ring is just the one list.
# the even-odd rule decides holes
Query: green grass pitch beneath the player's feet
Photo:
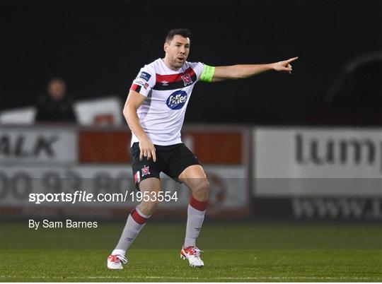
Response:
[{"label": "green grass pitch beneath the player's feet", "polygon": [[180,259],[183,224],[149,223],[122,271],[105,264],[123,223],[37,230],[0,225],[1,282],[381,282],[378,225],[204,224],[204,268]]}]

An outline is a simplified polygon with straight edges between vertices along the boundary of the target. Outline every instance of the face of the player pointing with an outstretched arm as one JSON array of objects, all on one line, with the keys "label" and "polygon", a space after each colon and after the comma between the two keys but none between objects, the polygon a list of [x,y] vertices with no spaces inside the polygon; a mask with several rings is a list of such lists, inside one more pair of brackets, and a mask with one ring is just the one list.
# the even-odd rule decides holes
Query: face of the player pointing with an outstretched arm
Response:
[{"label": "face of the player pointing with an outstretched arm", "polygon": [[174,35],[173,40],[166,42],[164,46],[166,59],[173,69],[183,66],[190,53],[190,38]]}]

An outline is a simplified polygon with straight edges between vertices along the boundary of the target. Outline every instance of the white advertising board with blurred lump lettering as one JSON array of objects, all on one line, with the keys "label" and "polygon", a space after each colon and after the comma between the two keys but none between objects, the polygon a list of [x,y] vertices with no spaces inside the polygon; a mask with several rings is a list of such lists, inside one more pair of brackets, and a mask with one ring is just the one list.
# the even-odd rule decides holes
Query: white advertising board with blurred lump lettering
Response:
[{"label": "white advertising board with blurred lump lettering", "polygon": [[256,196],[382,196],[382,129],[253,130]]}]

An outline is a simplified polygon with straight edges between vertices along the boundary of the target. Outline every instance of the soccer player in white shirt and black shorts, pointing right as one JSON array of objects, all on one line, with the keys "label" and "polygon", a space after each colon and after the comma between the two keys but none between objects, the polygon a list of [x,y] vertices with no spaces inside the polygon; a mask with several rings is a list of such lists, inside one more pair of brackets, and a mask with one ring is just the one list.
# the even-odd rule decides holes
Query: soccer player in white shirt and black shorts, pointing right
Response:
[{"label": "soccer player in white shirt and black shorts, pointing right", "polygon": [[[207,208],[206,174],[197,157],[182,143],[180,130],[192,89],[197,81],[217,82],[239,79],[275,70],[291,73],[291,61],[272,64],[208,66],[187,61],[190,52],[190,30],[170,30],[164,42],[165,57],[145,65],[127,96],[123,114],[132,130],[132,168],[137,189],[155,196],[161,191],[159,174],[182,182],[191,190],[187,208],[185,242],[180,256],[190,266],[202,267],[196,239]],[[154,191],[154,192],[153,192]],[[108,268],[122,269],[127,264],[127,249],[154,213],[158,199],[142,201],[129,214],[117,247],[108,257]]]}]

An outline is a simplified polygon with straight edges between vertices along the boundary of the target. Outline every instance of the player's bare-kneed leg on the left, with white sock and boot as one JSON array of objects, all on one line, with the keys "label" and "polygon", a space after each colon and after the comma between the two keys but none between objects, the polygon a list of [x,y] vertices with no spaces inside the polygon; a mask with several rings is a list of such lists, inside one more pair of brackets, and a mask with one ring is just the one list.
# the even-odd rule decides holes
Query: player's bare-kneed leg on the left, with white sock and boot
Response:
[{"label": "player's bare-kneed leg on the left, with white sock and boot", "polygon": [[[153,196],[154,194],[151,195],[151,192],[154,191],[156,193],[154,196],[158,196],[158,191],[161,190],[161,180],[156,177],[144,179],[139,183],[139,190],[142,194],[149,192],[149,196]],[[143,229],[144,225],[146,225],[146,221],[154,213],[157,205],[158,201],[156,199],[149,199],[149,201],[142,201],[139,206],[129,213],[120,240],[108,258],[108,268],[122,269],[122,263],[127,264],[125,257],[127,249],[134,242],[134,239]]]}]

